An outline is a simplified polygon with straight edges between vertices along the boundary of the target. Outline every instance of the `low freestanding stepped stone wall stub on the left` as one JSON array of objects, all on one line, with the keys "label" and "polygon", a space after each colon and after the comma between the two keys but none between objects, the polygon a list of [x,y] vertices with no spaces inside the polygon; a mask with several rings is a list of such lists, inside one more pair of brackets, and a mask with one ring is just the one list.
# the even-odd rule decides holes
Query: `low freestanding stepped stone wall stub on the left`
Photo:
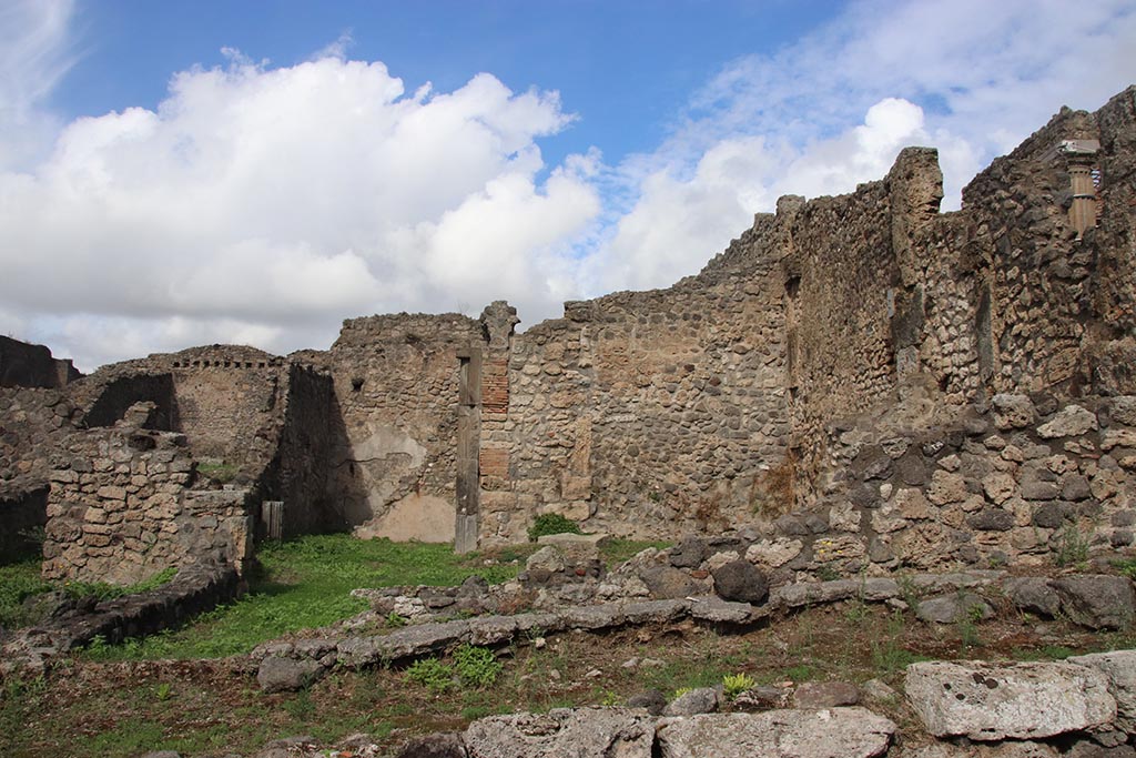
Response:
[{"label": "low freestanding stepped stone wall stub on the left", "polygon": [[240,569],[251,555],[247,492],[189,490],[194,461],[184,435],[127,422],[76,433],[60,453],[50,473],[45,578],[130,584],[206,560]]}]

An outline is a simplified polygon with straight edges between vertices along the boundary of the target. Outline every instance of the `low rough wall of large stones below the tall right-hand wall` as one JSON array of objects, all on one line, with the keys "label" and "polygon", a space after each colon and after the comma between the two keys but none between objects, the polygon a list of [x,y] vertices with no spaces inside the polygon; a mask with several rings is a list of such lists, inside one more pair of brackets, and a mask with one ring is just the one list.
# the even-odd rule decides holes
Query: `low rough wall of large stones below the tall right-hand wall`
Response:
[{"label": "low rough wall of large stones below the tall right-hand wall", "polygon": [[1074,565],[1134,543],[1136,398],[997,394],[955,419],[878,409],[827,430],[838,492],[768,525],[749,557],[794,578]]}]

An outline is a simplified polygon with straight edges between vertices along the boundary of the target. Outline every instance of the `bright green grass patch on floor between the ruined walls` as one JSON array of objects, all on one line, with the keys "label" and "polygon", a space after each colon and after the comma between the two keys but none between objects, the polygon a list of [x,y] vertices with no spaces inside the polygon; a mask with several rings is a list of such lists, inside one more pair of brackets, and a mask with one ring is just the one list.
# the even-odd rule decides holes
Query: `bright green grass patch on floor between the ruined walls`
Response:
[{"label": "bright green grass patch on floor between the ruined walls", "polygon": [[365,610],[357,588],[403,584],[448,586],[468,576],[488,582],[515,576],[517,565],[485,566],[481,556],[456,556],[445,544],[357,540],[319,534],[268,543],[249,593],[199,616],[192,624],[123,644],[94,645],[97,660],[220,658],[245,653],[261,642],[303,628],[327,626]]}]

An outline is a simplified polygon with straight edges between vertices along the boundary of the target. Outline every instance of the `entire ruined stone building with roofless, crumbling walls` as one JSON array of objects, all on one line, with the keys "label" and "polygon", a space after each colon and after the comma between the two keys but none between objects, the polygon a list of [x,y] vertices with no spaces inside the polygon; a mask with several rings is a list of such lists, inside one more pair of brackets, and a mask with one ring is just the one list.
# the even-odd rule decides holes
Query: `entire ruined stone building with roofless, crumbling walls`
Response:
[{"label": "entire ruined stone building with roofless, crumbling walls", "polygon": [[350,319],[287,358],[6,378],[0,507],[44,508],[48,576],[115,581],[268,534],[519,542],[544,513],[637,538],[755,525],[802,569],[1125,545],[1134,147],[1129,88],[1063,109],[945,214],[936,152],[909,148],[850,194],[782,198],[696,276],[519,334],[494,302]]}]

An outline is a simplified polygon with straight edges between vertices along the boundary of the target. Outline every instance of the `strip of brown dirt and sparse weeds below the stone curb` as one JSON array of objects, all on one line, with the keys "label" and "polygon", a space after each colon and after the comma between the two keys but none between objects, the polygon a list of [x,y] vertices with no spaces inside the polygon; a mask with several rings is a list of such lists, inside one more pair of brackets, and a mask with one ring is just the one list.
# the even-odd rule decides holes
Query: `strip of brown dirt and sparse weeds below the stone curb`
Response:
[{"label": "strip of brown dirt and sparse weeds below the stone curb", "polygon": [[[245,658],[72,659],[41,681],[5,684],[0,755],[82,758],[167,749],[183,757],[248,756],[278,738],[307,734],[329,745],[357,733],[394,751],[410,735],[459,730],[490,714],[623,705],[649,689],[670,699],[684,688],[718,684],[727,674],[779,688],[792,705],[794,685],[804,681],[878,680],[902,692],[904,667],[914,660],[1054,659],[1133,641],[1008,609],[985,622],[935,625],[910,611],[850,601],[750,630],[684,622],[516,640],[498,650],[504,667],[482,690],[454,684],[435,692],[395,666],[337,670],[301,692],[265,694]],[[921,740],[901,695],[877,695],[866,705],[895,720],[903,739]]]}]

